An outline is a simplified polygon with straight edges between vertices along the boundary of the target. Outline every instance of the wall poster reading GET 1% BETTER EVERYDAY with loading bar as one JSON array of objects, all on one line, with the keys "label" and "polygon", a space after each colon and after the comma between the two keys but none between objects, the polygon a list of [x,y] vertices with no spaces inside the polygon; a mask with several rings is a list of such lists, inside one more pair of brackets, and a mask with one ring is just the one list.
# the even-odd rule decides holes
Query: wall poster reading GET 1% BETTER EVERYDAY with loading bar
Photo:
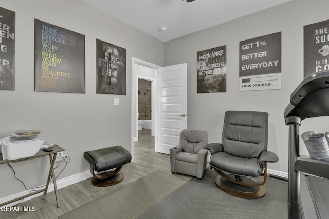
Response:
[{"label": "wall poster reading GET 1% BETTER EVERYDAY with loading bar", "polygon": [[239,91],[281,89],[281,32],[240,42]]}]

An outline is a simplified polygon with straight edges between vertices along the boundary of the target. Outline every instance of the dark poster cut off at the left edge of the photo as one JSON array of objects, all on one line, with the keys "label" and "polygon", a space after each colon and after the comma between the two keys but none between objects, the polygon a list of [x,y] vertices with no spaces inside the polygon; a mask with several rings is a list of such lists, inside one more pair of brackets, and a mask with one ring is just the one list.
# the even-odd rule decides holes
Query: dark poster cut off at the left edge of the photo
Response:
[{"label": "dark poster cut off at the left edge of the photo", "polygon": [[15,12],[0,7],[0,90],[15,90]]}]

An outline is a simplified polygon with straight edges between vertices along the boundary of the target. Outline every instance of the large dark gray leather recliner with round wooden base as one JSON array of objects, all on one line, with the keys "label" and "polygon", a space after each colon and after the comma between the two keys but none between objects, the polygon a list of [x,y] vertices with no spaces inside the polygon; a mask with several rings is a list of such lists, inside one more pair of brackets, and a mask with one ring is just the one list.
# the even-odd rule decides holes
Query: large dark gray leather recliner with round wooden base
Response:
[{"label": "large dark gray leather recliner with round wooden base", "polygon": [[242,198],[265,195],[267,162],[279,161],[267,151],[267,120],[266,112],[227,111],[222,143],[206,146],[211,152],[210,168],[219,174],[215,182],[226,193]]}]

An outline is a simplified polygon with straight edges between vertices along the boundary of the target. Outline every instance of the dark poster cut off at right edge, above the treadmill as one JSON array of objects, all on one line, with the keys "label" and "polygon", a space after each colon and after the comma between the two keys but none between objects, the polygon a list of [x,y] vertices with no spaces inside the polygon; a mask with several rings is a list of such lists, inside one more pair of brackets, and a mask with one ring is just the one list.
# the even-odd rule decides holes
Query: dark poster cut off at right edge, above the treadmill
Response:
[{"label": "dark poster cut off at right edge, above the treadmill", "polygon": [[329,20],[304,26],[304,77],[329,70]]}]

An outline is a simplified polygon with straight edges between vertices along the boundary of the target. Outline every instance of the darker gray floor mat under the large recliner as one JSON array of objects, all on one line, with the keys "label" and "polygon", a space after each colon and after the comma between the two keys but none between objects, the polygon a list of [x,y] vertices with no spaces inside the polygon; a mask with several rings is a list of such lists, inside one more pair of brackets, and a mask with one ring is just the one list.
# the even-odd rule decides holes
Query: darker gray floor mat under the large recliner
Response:
[{"label": "darker gray floor mat under the large recliner", "polygon": [[286,182],[268,178],[266,194],[245,200],[226,194],[215,184],[217,174],[206,169],[202,180],[193,178],[141,214],[147,218],[287,218]]}]

